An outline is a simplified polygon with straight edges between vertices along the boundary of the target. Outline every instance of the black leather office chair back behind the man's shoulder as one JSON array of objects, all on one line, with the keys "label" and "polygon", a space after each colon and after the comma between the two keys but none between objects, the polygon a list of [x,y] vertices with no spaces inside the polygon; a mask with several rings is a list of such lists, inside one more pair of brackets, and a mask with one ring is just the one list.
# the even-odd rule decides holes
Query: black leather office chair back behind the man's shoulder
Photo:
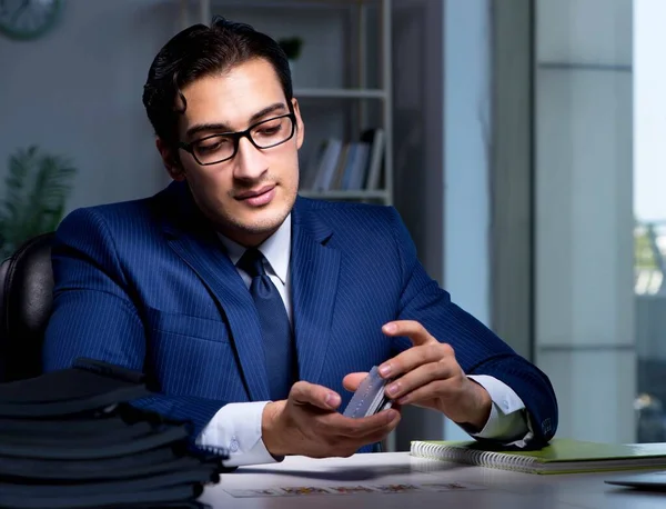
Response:
[{"label": "black leather office chair back behind the man's shoulder", "polygon": [[0,265],[0,382],[41,375],[53,303],[53,232],[24,242]]}]

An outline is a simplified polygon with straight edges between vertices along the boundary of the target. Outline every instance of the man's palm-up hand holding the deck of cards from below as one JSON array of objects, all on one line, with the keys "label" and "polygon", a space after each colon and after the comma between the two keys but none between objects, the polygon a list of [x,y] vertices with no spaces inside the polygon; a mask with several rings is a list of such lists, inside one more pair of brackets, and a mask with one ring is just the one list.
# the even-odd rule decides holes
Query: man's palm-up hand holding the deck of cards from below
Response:
[{"label": "man's palm-up hand holding the deck of cards from below", "polygon": [[293,385],[289,398],[265,406],[262,439],[273,456],[349,457],[362,446],[383,440],[400,422],[395,409],[361,419],[339,413],[337,393],[305,381]]}]

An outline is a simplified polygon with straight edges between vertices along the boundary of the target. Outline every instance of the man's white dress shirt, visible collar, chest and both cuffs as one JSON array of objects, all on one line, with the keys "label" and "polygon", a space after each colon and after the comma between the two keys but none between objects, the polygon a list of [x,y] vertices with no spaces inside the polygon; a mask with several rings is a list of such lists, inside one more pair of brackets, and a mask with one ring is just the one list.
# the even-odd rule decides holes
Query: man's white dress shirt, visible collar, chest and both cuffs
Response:
[{"label": "man's white dress shirt, visible collar, chest and both cuffs", "polygon": [[[245,252],[245,248],[226,237],[219,236],[226,248],[231,261],[236,265]],[[290,292],[290,257],[291,257],[291,214],[286,217],[278,231],[269,237],[259,250],[264,256],[264,269],[284,301],[286,315],[292,321]],[[251,277],[236,268],[245,286],[250,288]],[[491,416],[481,432],[473,435],[495,440],[528,440],[532,435],[525,418],[525,405],[521,398],[505,383],[486,375],[470,376],[483,386],[493,401]],[[269,401],[228,403],[215,413],[196,439],[196,443],[208,449],[224,449],[229,459],[225,467],[243,465],[272,463],[275,459],[266,450],[261,436],[263,409]]]}]

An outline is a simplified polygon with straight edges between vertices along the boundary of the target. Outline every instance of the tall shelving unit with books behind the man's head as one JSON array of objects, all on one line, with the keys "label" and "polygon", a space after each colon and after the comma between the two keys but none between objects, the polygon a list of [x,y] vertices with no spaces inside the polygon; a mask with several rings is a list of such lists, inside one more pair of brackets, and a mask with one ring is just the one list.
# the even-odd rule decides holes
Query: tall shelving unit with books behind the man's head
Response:
[{"label": "tall shelving unit with books behind the man's head", "polygon": [[293,76],[306,132],[301,196],[393,204],[391,9],[391,0],[181,0],[180,24],[220,13],[275,39],[302,37],[310,56]]}]

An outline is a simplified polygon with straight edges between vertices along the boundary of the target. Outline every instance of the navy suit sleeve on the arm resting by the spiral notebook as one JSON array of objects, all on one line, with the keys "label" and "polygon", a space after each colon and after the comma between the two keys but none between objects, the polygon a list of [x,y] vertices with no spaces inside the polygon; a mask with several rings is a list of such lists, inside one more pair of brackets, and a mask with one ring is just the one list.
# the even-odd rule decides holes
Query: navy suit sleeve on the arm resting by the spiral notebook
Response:
[{"label": "navy suit sleeve on the arm resting by the spiral notebook", "polygon": [[[397,212],[390,210],[403,275],[397,319],[416,320],[440,341],[451,345],[465,373],[487,375],[511,387],[525,405],[534,445],[547,442],[557,428],[557,400],[548,377],[451,301],[448,292],[425,272]],[[407,338],[396,338],[398,351],[411,346]]]}]

